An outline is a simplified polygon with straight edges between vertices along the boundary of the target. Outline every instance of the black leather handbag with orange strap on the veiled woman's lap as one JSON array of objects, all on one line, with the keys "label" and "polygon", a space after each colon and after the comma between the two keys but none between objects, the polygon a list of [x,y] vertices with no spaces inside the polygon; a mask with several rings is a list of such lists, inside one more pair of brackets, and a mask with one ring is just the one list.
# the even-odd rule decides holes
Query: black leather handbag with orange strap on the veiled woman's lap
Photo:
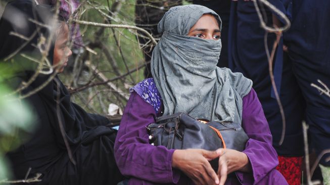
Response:
[{"label": "black leather handbag with orange strap on the veiled woman's lap", "polygon": [[[202,123],[186,113],[175,113],[158,117],[147,127],[149,142],[167,149],[205,149],[228,148],[238,151],[245,149],[249,137],[241,124],[211,121]],[[217,169],[218,162],[210,162]]]}]

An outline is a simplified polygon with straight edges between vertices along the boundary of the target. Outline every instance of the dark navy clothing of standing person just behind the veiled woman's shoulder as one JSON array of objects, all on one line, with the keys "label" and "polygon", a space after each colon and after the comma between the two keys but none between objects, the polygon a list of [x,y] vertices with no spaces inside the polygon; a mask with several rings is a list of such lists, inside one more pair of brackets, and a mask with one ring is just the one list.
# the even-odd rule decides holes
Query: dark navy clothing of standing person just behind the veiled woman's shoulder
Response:
[{"label": "dark navy clothing of standing person just behind the veiled woman's shoulder", "polygon": [[[285,11],[284,3],[273,0],[270,3],[279,10]],[[278,6],[280,4],[281,6]],[[267,25],[272,25],[272,12],[265,9]],[[273,146],[280,156],[303,156],[302,120],[304,118],[305,103],[292,71],[294,65],[288,55],[282,59],[274,59],[274,75],[280,75],[280,85],[277,86],[280,101],[286,116],[286,133],[284,142],[279,146],[282,132],[282,120],[276,99],[271,96],[271,81],[268,72],[268,59],[264,47],[265,31],[260,27],[260,20],[251,1],[238,1],[231,4],[229,29],[229,67],[235,72],[242,72],[252,79],[253,88],[262,104],[269,128],[273,136]],[[269,52],[275,40],[274,34],[268,34]],[[279,47],[281,53],[282,48]],[[284,61],[282,61],[284,60]],[[282,63],[280,74],[276,74],[275,65]],[[278,88],[279,87],[279,88]]]}]

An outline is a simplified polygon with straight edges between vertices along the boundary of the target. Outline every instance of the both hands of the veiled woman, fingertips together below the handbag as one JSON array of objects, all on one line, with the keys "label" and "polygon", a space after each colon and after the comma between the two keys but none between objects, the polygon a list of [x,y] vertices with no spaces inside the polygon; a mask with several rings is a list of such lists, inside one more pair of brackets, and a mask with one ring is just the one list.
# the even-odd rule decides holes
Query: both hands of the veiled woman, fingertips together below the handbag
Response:
[{"label": "both hands of the veiled woman, fingertips together below the handbag", "polygon": [[[209,161],[219,158],[217,173]],[[224,184],[227,174],[233,171],[250,172],[251,165],[246,154],[237,150],[203,149],[175,150],[172,156],[172,167],[180,169],[194,184]]]}]

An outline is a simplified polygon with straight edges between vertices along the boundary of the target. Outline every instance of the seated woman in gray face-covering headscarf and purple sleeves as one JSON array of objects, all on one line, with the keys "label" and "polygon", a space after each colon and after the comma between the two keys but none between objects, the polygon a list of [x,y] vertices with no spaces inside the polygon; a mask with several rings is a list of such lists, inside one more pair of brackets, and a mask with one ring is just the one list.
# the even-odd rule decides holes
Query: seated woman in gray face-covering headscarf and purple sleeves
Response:
[{"label": "seated woman in gray face-covering headscarf and purple sleeves", "polygon": [[[252,81],[218,68],[221,19],[198,5],[171,8],[152,56],[152,75],[130,89],[115,143],[115,158],[129,184],[287,184],[275,170],[277,155]],[[149,144],[146,126],[161,115],[241,123],[243,152],[168,150]],[[214,171],[208,161],[219,158]]]}]

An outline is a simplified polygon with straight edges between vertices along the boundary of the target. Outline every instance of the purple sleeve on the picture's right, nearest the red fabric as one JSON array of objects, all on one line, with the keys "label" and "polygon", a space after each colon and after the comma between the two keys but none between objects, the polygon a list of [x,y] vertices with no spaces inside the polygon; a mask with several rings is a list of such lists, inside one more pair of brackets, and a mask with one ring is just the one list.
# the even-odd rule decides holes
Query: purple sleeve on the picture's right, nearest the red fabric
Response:
[{"label": "purple sleeve on the picture's right, nearest the red fabric", "polygon": [[242,120],[242,127],[249,136],[243,153],[250,160],[253,176],[251,173],[236,172],[236,174],[243,184],[257,184],[272,174],[270,171],[278,165],[278,159],[272,147],[268,122],[254,89],[243,98]]}]

